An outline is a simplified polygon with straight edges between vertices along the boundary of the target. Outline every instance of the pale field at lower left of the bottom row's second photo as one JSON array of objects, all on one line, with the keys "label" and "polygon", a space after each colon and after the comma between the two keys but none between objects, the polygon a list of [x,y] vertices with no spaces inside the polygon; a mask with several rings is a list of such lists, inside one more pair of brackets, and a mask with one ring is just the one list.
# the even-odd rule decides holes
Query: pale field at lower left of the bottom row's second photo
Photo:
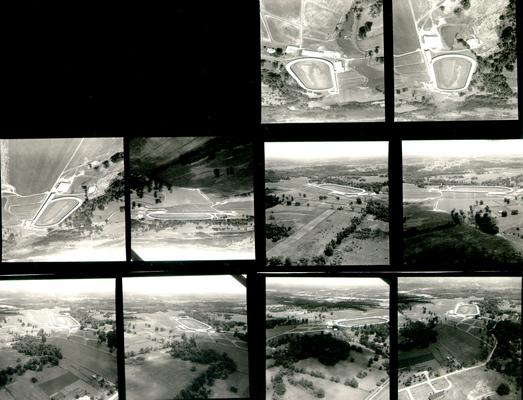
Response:
[{"label": "pale field at lower left of the bottom row's second photo", "polygon": [[[163,352],[145,354],[144,358],[144,361],[127,360],[125,363],[129,400],[174,398],[207,369],[206,365],[175,359]],[[192,367],[194,371],[191,371]]]}]

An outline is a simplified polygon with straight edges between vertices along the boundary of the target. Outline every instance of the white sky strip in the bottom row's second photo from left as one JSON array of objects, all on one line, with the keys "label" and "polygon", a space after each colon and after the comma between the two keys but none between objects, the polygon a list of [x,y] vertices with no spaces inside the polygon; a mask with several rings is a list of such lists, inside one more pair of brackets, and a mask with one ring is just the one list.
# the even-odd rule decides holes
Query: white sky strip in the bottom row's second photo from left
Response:
[{"label": "white sky strip in the bottom row's second photo from left", "polygon": [[136,294],[243,294],[246,288],[230,275],[124,278],[123,290]]}]

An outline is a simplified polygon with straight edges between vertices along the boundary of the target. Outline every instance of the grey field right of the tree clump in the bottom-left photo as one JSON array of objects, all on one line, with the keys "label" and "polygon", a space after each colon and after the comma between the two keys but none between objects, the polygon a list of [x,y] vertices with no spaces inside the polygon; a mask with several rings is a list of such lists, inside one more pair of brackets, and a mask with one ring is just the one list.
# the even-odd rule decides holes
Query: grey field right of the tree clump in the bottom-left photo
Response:
[{"label": "grey field right of the tree clump in the bottom-left photo", "polygon": [[111,382],[116,382],[116,356],[114,354],[97,351],[90,346],[82,346],[64,338],[50,337],[47,342],[62,350],[64,364],[73,368],[87,368]]}]

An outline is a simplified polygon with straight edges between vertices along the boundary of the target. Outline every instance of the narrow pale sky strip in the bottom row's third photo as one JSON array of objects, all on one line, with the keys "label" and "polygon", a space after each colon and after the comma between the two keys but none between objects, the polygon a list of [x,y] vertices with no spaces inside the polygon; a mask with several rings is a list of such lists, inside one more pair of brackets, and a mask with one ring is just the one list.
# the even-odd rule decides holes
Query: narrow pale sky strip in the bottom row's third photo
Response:
[{"label": "narrow pale sky strip in the bottom row's third photo", "polygon": [[387,285],[380,278],[315,278],[315,277],[267,277],[266,287],[271,289],[278,286],[314,287],[314,288],[358,288],[358,287],[383,287],[388,290]]}]

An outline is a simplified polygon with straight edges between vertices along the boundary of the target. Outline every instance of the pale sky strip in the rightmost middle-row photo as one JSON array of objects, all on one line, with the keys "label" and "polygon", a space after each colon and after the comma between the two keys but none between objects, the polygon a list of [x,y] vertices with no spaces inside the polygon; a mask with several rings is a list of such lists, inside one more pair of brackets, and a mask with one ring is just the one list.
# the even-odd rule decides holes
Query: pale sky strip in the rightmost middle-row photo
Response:
[{"label": "pale sky strip in the rightmost middle-row photo", "polygon": [[404,156],[523,156],[523,140],[405,140]]}]

